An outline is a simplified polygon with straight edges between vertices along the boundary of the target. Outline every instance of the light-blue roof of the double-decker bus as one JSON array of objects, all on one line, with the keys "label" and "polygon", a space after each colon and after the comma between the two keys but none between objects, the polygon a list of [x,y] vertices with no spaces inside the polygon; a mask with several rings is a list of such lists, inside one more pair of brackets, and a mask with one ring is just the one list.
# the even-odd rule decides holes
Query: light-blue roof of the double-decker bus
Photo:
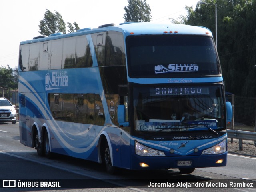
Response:
[{"label": "light-blue roof of the double-decker bus", "polygon": [[44,42],[48,40],[67,38],[72,36],[80,36],[84,34],[92,34],[105,31],[119,31],[124,33],[124,36],[128,35],[152,35],[152,34],[166,34],[166,35],[178,35],[178,34],[192,34],[192,35],[208,35],[212,36],[212,32],[205,27],[201,26],[190,26],[183,24],[160,24],[160,23],[151,23],[151,22],[127,22],[121,23],[119,25],[106,24],[99,26],[99,28],[84,28],[80,29],[74,33],[62,34],[56,33],[47,36],[38,36],[32,40],[26,40],[20,42],[20,44],[29,44],[34,42]]}]

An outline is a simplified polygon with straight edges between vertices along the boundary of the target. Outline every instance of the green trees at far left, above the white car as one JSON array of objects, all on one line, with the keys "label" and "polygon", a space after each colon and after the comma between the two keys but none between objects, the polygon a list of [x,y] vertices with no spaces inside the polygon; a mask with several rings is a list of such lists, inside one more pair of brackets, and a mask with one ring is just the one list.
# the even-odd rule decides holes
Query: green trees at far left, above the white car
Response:
[{"label": "green trees at far left, above the white car", "polygon": [[15,69],[10,68],[9,65],[6,67],[0,67],[0,87],[3,88],[18,88],[18,67]]}]

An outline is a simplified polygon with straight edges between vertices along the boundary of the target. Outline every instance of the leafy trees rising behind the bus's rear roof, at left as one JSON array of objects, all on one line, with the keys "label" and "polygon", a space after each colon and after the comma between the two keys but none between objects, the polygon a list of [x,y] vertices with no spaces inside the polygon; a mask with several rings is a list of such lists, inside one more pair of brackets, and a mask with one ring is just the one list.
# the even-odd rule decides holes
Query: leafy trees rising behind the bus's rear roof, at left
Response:
[{"label": "leafy trees rising behind the bus's rear roof, at left", "polygon": [[[71,23],[68,24],[68,32],[75,32],[79,28],[78,24],[74,22],[74,26],[72,26]],[[44,19],[40,20],[39,25],[39,33],[41,35],[49,36],[50,34],[59,33],[62,32],[66,34],[66,24],[61,16],[61,14],[57,11],[55,11],[55,14],[50,12],[48,9],[46,9],[46,12],[44,13]]]}]

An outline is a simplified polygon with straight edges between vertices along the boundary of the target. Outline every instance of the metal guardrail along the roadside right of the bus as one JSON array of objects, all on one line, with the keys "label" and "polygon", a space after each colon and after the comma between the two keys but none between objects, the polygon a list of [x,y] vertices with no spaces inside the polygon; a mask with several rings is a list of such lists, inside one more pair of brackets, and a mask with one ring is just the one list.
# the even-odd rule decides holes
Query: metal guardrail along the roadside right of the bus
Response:
[{"label": "metal guardrail along the roadside right of the bus", "polygon": [[228,138],[239,139],[239,150],[243,150],[243,139],[254,141],[256,146],[256,132],[227,129]]}]

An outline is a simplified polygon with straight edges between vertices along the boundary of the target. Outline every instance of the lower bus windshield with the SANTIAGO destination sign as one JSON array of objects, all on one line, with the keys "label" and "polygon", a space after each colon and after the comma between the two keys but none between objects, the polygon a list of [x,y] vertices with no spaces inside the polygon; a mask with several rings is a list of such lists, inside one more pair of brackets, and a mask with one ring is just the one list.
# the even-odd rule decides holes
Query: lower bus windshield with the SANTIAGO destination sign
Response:
[{"label": "lower bus windshield with the SANTIAGO destination sign", "polygon": [[133,88],[136,131],[188,131],[225,127],[222,86]]}]

